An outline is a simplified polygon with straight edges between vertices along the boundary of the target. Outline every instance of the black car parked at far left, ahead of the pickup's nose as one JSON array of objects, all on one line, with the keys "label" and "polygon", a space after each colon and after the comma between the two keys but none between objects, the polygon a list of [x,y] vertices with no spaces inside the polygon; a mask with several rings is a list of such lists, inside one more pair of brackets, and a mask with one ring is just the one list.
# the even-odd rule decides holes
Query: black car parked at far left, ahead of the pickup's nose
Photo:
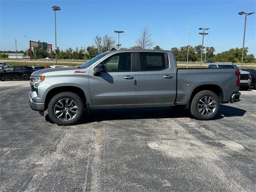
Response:
[{"label": "black car parked at far left, ahead of the pickup's nose", "polygon": [[12,66],[0,72],[0,80],[6,79],[22,79],[24,81],[29,80],[30,75],[35,69],[28,66]]}]

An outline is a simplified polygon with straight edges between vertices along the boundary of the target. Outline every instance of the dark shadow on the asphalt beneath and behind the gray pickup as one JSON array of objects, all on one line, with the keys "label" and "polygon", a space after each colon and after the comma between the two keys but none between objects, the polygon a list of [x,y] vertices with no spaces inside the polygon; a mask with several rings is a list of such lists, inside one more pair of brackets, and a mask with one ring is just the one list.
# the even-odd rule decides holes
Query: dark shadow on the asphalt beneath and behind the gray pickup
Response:
[{"label": "dark shadow on the asphalt beneath and behind the gray pickup", "polygon": [[[244,116],[246,110],[221,105],[218,115],[213,119],[222,119],[224,117]],[[131,120],[131,119],[161,119],[161,118],[191,118],[188,110],[175,110],[169,107],[143,107],[143,108],[120,108],[120,109],[96,109],[90,110],[90,114],[84,115],[76,122],[78,124],[86,124],[92,122],[101,122],[108,120]],[[52,123],[48,114],[46,121]]]}]

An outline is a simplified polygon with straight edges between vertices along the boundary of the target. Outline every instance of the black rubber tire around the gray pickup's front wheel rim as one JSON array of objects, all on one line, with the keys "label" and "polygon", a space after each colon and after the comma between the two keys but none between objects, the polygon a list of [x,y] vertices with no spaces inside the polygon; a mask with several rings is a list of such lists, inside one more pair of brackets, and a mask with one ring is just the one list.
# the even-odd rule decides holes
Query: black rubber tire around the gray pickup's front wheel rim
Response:
[{"label": "black rubber tire around the gray pickup's front wheel rim", "polygon": [[[70,99],[70,100],[73,100],[76,105],[77,105],[77,113],[76,115],[74,116],[74,118],[70,119],[70,120],[61,120],[60,118],[58,118],[58,116],[55,114],[54,112],[54,109],[55,109],[55,106],[56,106],[56,103],[62,99]],[[48,104],[48,115],[50,117],[50,119],[56,123],[57,125],[72,125],[74,124],[75,122],[77,122],[80,117],[82,116],[83,114],[83,108],[84,108],[84,104],[81,100],[81,98],[77,95],[77,94],[74,94],[72,92],[62,92],[62,93],[59,93],[57,95],[55,95],[49,102]],[[64,110],[63,110],[64,111]],[[65,112],[65,111],[64,111]],[[68,111],[69,112],[69,111]],[[64,114],[65,115],[65,114]],[[71,116],[70,116],[71,117]]]}]

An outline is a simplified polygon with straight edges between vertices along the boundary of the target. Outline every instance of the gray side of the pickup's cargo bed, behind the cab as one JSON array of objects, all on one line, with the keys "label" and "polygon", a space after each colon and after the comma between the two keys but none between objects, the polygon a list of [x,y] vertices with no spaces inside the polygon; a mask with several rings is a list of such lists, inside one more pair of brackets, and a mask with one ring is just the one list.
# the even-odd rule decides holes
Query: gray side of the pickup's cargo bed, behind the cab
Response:
[{"label": "gray side of the pickup's cargo bed, behind the cab", "polygon": [[223,92],[223,101],[228,102],[230,95],[239,91],[236,86],[239,69],[230,68],[180,68],[177,69],[177,98],[176,104],[187,104],[192,90],[198,86],[218,86]]}]

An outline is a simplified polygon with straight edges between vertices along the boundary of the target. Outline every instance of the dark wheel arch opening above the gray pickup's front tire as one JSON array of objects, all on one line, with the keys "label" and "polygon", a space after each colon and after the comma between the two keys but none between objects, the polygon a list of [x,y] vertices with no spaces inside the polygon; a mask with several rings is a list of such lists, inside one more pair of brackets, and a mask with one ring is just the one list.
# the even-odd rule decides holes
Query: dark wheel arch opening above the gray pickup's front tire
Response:
[{"label": "dark wheel arch opening above the gray pickup's front tire", "polygon": [[86,96],[84,94],[84,91],[76,86],[60,86],[60,87],[56,87],[56,88],[52,88],[45,97],[45,102],[44,102],[44,110],[47,110],[48,108],[48,104],[50,102],[50,100],[57,94],[61,93],[61,92],[72,92],[74,94],[77,94],[82,102],[84,103],[84,106],[86,105]]}]

